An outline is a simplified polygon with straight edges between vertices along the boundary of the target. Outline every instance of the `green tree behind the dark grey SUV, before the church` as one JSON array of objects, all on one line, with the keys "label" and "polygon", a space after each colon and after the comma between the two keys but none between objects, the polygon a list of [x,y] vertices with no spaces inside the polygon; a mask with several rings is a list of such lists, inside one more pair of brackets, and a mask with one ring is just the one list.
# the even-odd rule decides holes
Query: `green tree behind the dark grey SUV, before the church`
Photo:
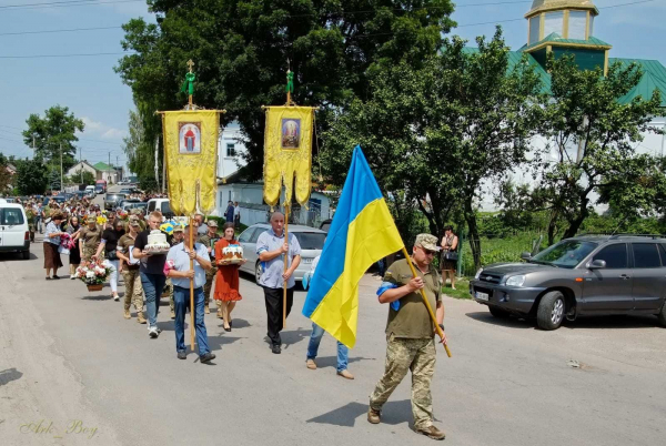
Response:
[{"label": "green tree behind the dark grey SUV, before the church", "polygon": [[[655,176],[658,160],[637,154],[635,146],[644,132],[658,132],[649,125],[659,113],[658,90],[652,98],[622,101],[643,77],[635,63],[616,62],[607,75],[601,68],[579,70],[568,57],[551,57],[547,67],[552,97],[543,133],[551,141],[546,150],[555,149],[557,158],[537,160],[543,181],[536,192],[543,207],[551,210],[552,221],[564,220],[563,236],[574,236],[599,195],[629,214],[636,215],[632,209],[648,211],[649,196],[656,199],[655,187],[662,181]],[[652,180],[642,181],[647,178]],[[638,197],[639,203],[632,201]]]}]

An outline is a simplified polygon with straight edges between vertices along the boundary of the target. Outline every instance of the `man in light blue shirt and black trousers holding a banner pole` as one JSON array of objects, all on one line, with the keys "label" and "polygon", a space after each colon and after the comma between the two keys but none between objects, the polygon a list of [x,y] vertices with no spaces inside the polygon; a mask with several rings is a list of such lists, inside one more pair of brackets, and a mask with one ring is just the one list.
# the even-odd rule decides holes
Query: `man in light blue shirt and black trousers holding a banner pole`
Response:
[{"label": "man in light blue shirt and black trousers holding a banner pole", "polygon": [[[289,244],[284,239],[284,214],[275,212],[271,215],[271,229],[256,240],[256,254],[261,261],[261,278],[259,285],[264,290],[266,315],[269,318],[269,338],[271,351],[281,353],[282,339],[282,305],[284,302],[283,286],[286,281],[286,314],[291,312],[294,302],[294,271],[301,263],[301,245],[294,234],[289,234]],[[286,257],[286,272],[284,261]]]}]

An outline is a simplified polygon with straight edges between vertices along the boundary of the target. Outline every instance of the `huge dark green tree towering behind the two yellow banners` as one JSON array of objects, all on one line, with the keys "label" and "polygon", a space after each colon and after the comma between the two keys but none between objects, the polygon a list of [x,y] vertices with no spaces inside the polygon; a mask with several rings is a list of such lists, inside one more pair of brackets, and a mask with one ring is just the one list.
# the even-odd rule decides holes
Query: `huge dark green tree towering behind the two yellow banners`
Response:
[{"label": "huge dark green tree towering behind the two yellow banners", "polygon": [[[369,79],[382,65],[406,60],[418,65],[434,54],[454,24],[450,0],[152,0],[158,24],[142,19],[123,28],[117,71],[132,88],[144,126],[155,110],[180,109],[189,59],[195,61],[195,103],[226,109],[238,120],[248,148],[250,176],[263,165],[264,112],[285,100],[287,60],[294,100],[321,105],[320,129],[335,107],[365,98]],[[157,121],[159,124],[159,121]],[[159,132],[145,129],[154,144]],[[149,151],[143,146],[143,151]],[[154,165],[154,163],[153,163]]]}]

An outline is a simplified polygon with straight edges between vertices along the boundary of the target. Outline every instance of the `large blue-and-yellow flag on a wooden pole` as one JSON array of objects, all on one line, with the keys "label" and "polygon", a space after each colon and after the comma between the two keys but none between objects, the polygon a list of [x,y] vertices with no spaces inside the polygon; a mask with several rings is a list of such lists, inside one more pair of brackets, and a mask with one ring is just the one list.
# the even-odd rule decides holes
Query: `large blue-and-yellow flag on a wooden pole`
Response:
[{"label": "large blue-and-yellow flag on a wooden pole", "polygon": [[303,315],[352,348],[359,321],[359,281],[373,263],[402,247],[380,186],[356,145]]}]

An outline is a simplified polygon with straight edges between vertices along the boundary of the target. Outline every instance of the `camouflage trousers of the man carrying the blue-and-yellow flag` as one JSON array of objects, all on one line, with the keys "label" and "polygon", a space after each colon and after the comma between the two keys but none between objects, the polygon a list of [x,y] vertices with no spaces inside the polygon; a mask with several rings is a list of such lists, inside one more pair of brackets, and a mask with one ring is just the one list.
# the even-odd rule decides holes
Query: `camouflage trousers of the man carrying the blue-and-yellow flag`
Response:
[{"label": "camouflage trousers of the man carrying the blue-and-yellow flag", "polygon": [[412,371],[412,415],[414,428],[433,424],[431,381],[435,372],[435,342],[433,338],[410,339],[389,336],[384,376],[370,396],[370,407],[381,410],[395,387]]}]

